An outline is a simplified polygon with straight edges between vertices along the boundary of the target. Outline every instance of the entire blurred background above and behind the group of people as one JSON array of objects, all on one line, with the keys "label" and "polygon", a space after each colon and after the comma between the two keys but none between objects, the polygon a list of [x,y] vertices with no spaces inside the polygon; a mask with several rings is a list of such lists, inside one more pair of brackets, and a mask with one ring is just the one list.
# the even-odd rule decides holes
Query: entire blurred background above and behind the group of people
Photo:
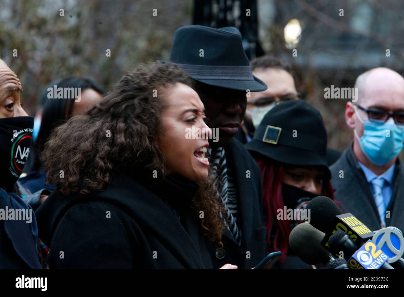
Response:
[{"label": "entire blurred background above and behind the group of people", "polygon": [[[253,21],[246,23],[249,6]],[[34,115],[54,79],[89,77],[109,87],[138,63],[168,59],[175,30],[201,23],[197,17],[212,27],[234,25],[247,36],[249,57],[274,55],[292,65],[298,91],[324,118],[329,146],[343,150],[352,139],[347,99],[324,99],[324,88],[352,87],[373,67],[403,74],[403,12],[402,0],[0,0],[0,57],[19,76],[24,108]]]}]

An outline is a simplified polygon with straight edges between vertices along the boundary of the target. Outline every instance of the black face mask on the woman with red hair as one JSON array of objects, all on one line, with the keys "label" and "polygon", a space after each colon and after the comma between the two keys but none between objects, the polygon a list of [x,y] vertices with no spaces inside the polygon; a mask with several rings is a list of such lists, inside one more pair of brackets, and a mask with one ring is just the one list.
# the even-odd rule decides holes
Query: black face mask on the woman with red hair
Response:
[{"label": "black face mask on the woman with red hair", "polygon": [[[299,187],[288,185],[286,183],[283,183],[282,187],[283,187],[283,203],[287,209],[304,210],[311,199],[321,195],[307,192]],[[292,220],[290,222],[291,223],[290,229],[293,229],[299,223],[303,222],[304,221],[302,220],[298,221]]]}]

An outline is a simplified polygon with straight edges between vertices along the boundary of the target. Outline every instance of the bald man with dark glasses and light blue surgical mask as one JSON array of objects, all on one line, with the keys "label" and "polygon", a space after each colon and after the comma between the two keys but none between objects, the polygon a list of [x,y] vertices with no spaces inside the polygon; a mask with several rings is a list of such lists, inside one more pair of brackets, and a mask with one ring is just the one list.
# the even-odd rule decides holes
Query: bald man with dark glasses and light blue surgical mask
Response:
[{"label": "bald man with dark glasses and light blue surgical mask", "polygon": [[330,167],[335,198],[370,230],[404,230],[404,78],[387,68],[358,76],[345,121],[353,142]]}]

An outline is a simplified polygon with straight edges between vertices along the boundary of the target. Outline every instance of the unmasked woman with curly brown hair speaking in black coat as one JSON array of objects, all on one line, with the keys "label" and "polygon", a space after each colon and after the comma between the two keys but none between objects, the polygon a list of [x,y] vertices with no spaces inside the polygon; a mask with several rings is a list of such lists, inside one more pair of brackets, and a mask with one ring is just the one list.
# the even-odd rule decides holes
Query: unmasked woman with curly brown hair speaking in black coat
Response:
[{"label": "unmasked woman with curly brown hair speaking in black coat", "polygon": [[37,211],[51,269],[212,268],[225,215],[191,86],[173,64],[141,65],[55,129],[42,160],[56,191]]}]

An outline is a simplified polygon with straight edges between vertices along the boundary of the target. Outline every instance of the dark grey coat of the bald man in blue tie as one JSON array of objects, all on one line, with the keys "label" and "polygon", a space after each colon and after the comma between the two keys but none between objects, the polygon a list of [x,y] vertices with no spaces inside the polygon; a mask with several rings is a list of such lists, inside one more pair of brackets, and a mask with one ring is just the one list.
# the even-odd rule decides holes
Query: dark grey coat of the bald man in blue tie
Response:
[{"label": "dark grey coat of the bald man in blue tie", "polygon": [[[340,171],[343,178],[340,178]],[[370,230],[379,230],[381,221],[370,185],[353,154],[353,143],[342,153],[341,158],[330,167],[331,184],[335,191],[335,200],[339,201],[345,213],[352,213]],[[397,158],[394,173],[394,186],[391,200],[387,206],[390,218],[387,226],[404,230],[404,167]]]}]

